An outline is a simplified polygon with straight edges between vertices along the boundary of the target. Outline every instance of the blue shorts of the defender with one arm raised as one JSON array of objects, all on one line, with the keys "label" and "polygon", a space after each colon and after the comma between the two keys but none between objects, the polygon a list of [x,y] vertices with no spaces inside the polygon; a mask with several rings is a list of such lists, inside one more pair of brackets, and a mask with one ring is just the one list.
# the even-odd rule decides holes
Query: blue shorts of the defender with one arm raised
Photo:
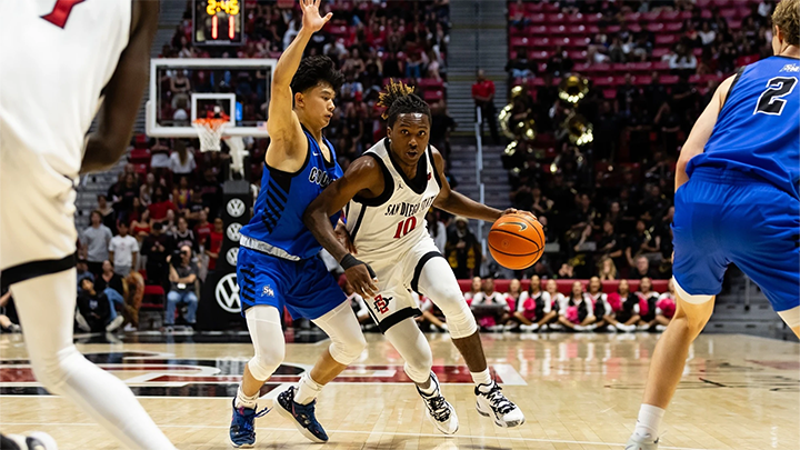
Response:
[{"label": "blue shorts of the defender with one arm raised", "polygon": [[244,247],[239,248],[237,282],[242,314],[267,304],[289,310],[293,319],[319,319],[347,297],[319,258],[289,261]]}]

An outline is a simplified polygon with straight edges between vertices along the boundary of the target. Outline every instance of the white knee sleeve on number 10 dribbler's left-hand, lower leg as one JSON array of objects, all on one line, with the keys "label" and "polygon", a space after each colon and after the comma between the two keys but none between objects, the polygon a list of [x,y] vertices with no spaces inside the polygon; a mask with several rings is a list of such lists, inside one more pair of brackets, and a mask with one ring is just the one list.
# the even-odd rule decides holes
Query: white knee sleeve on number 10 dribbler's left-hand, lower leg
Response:
[{"label": "white knee sleeve on number 10 dribbler's left-hand, lower leg", "polygon": [[411,381],[421,384],[430,378],[433,354],[428,340],[413,319],[404,319],[386,332],[387,339],[406,360],[403,370]]}]

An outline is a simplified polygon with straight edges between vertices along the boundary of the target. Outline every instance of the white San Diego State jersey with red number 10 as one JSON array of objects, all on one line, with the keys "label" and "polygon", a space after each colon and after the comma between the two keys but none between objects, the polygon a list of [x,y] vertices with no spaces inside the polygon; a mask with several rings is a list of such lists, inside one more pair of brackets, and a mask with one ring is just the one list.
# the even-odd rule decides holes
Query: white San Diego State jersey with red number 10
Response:
[{"label": "white San Diego State jersey with red number 10", "polygon": [[397,260],[418,242],[431,239],[424,217],[441,187],[430,146],[410,180],[394,164],[388,143],[383,139],[364,152],[364,158],[374,158],[383,169],[383,193],[374,199],[357,196],[346,210],[358,258],[370,264]]}]

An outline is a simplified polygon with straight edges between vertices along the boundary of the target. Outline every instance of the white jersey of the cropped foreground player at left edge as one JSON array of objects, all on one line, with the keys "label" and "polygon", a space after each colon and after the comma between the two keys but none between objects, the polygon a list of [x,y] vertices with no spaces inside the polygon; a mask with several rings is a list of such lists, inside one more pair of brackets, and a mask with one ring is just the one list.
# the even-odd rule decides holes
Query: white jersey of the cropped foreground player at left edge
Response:
[{"label": "white jersey of the cropped foreground player at left edge", "polygon": [[100,93],[128,46],[131,0],[4,1],[0,17],[2,163],[22,166],[33,152],[74,179]]}]

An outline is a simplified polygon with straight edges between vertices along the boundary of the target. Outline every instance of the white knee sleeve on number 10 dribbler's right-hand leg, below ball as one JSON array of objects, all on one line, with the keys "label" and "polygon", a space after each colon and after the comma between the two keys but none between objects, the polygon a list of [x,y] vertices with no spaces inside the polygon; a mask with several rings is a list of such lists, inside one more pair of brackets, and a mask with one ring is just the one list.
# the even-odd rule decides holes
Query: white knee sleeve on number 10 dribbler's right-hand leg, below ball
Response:
[{"label": "white knee sleeve on number 10 dribbler's right-hand leg, below ball", "polygon": [[444,313],[450,337],[461,339],[478,331],[478,323],[467,306],[458,280],[443,258],[431,258],[426,262],[418,287]]}]

